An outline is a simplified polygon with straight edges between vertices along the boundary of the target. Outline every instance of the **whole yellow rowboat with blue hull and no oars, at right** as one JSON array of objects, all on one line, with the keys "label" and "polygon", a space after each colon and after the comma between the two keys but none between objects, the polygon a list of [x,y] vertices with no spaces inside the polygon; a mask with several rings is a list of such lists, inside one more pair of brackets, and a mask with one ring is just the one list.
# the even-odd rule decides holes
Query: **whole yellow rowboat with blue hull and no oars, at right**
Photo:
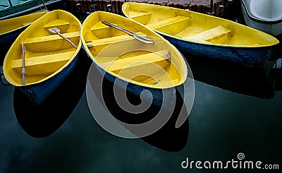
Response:
[{"label": "whole yellow rowboat with blue hull and no oars, at right", "polygon": [[159,32],[183,54],[247,66],[262,66],[279,41],[259,30],[202,13],[168,6],[126,2],[126,17]]}]

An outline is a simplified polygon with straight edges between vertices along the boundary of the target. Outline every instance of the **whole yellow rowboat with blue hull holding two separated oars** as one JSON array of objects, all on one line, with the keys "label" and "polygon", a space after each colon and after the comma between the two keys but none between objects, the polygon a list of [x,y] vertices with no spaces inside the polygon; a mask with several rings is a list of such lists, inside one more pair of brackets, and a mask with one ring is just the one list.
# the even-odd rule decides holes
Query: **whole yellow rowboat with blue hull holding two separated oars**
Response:
[{"label": "whole yellow rowboat with blue hull holding two separated oars", "polygon": [[[58,28],[77,49],[50,28]],[[8,83],[40,105],[75,67],[80,28],[80,21],[62,10],[51,11],[32,23],[6,54],[3,70]]]}]

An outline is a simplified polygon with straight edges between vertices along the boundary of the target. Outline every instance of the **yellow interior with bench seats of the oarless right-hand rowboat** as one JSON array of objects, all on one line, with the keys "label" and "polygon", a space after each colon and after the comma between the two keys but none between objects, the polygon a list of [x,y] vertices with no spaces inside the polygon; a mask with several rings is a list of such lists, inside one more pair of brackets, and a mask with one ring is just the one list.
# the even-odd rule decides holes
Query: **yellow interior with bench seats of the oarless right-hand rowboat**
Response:
[{"label": "yellow interior with bench seats of the oarless right-hand rowboat", "polygon": [[259,30],[202,13],[180,8],[126,2],[123,13],[164,35],[182,40],[235,47],[264,47],[278,40]]}]

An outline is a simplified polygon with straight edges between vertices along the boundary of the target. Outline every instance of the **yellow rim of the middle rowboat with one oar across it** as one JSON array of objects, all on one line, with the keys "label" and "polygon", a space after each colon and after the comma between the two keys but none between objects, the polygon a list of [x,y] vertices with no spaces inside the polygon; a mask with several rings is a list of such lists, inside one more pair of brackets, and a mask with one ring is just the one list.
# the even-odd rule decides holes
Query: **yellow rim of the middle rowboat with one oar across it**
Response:
[{"label": "yellow rim of the middle rowboat with one oar across it", "polygon": [[[94,13],[107,13],[107,12],[104,12],[104,11],[95,11]],[[118,16],[117,14],[114,14],[114,16]],[[91,16],[91,15],[90,15]],[[87,18],[85,18],[84,22],[88,20],[88,18],[90,18],[90,16],[87,16]],[[125,18],[124,16],[121,16],[122,18]],[[176,47],[171,44],[170,42],[168,42],[167,40],[164,39],[164,37],[162,37],[161,35],[159,35],[157,32],[154,32],[154,30],[152,30],[151,28],[148,28],[146,27],[145,25],[142,25],[141,23],[137,23],[135,20],[131,19],[131,18],[125,18],[125,20],[131,20],[133,23],[137,24],[137,25],[140,25],[141,27],[143,28],[146,28],[146,30],[149,30],[150,32],[153,32],[155,35],[157,35],[159,38],[161,38],[161,40],[164,40],[164,42],[166,42],[167,44],[169,44],[171,46],[172,49],[174,49],[176,52],[178,52],[178,54],[180,54],[181,57],[183,57],[183,55],[178,51],[178,49],[176,49]],[[89,56],[92,61],[94,62],[95,65],[97,65],[99,68],[101,68],[105,73],[109,73],[111,76],[114,76],[115,78],[118,78],[119,80],[123,80],[125,82],[128,82],[128,83],[132,83],[133,85],[140,85],[142,87],[146,87],[146,88],[152,88],[152,89],[158,89],[158,90],[164,90],[164,89],[167,89],[167,88],[173,88],[173,87],[178,87],[179,85],[183,85],[183,83],[185,83],[185,80],[188,78],[188,65],[186,64],[186,61],[184,58],[182,58],[182,61],[185,65],[185,76],[183,76],[182,74],[180,74],[180,78],[181,78],[181,82],[178,82],[177,84],[173,84],[171,86],[166,86],[166,87],[159,87],[158,85],[149,85],[149,84],[146,84],[146,83],[142,83],[142,82],[138,82],[138,81],[135,81],[135,80],[130,80],[128,78],[125,78],[123,76],[119,76],[118,74],[112,72],[112,71],[108,71],[107,69],[104,69],[102,66],[100,66],[99,62],[94,58],[94,56],[92,55],[92,53],[90,52],[90,49],[88,49],[88,47],[86,46],[86,42],[84,40],[84,37],[83,37],[83,26],[82,28],[80,29],[80,39],[81,39],[81,42],[82,42],[82,48],[85,50],[85,52],[87,53],[87,56]],[[181,61],[181,60],[180,60]],[[184,77],[184,78],[183,78]]]}]

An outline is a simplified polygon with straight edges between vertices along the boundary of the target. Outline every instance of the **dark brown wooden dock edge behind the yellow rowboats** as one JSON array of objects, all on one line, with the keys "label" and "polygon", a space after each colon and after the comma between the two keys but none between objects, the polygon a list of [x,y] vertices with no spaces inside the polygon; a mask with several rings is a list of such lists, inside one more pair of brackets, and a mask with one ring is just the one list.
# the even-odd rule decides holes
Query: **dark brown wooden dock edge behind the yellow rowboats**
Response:
[{"label": "dark brown wooden dock edge behind the yellow rowboats", "polygon": [[[223,17],[228,11],[228,0],[68,0],[73,12],[111,11],[122,14],[121,6],[124,2],[137,1],[162,6],[188,9],[199,13]],[[211,3],[213,2],[213,3]],[[212,6],[211,6],[212,4]],[[211,9],[212,7],[212,9]]]}]

